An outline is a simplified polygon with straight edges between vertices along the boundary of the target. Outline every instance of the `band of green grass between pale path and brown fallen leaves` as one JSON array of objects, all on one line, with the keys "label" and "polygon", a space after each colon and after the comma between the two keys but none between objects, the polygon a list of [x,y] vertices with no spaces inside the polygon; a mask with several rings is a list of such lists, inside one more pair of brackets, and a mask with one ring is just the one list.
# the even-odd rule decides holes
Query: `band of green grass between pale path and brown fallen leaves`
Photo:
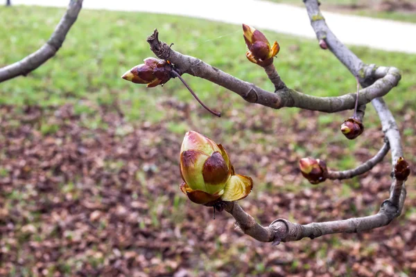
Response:
[{"label": "band of green grass between pale path and brown fallen leaves", "polygon": [[[42,46],[62,13],[62,9],[56,8],[0,8],[0,66],[16,62]],[[76,113],[94,115],[99,105],[112,109],[118,101],[127,120],[162,120],[166,115],[158,103],[164,98],[174,96],[178,101],[194,102],[182,83],[175,79],[164,87],[146,89],[120,78],[126,70],[153,56],[146,37],[154,28],[158,28],[160,39],[175,43],[175,50],[199,57],[238,78],[272,90],[263,71],[246,60],[240,26],[168,15],[83,10],[58,55],[28,77],[1,84],[0,104],[56,107],[71,103]],[[329,51],[320,50],[315,40],[265,33],[281,45],[275,64],[290,87],[315,96],[338,96],[354,91],[354,78]],[[231,35],[218,38],[226,34]],[[207,42],[208,39],[211,40]],[[352,47],[352,50],[364,62],[401,69],[403,79],[399,87],[386,98],[393,110],[413,109],[409,105],[416,100],[416,93],[412,93],[416,90],[413,66],[416,55],[358,47]],[[235,93],[211,82],[189,75],[184,78],[209,107],[216,107],[219,98],[233,107],[250,105]],[[406,100],[397,97],[403,93],[406,93]],[[291,114],[288,111],[278,112],[286,116],[284,114]],[[324,123],[327,118],[322,120],[320,122]],[[85,124],[102,127],[99,116],[93,116],[92,122]],[[55,131],[53,127],[44,128],[45,134]],[[180,132],[183,127],[171,128],[173,132]]]}]

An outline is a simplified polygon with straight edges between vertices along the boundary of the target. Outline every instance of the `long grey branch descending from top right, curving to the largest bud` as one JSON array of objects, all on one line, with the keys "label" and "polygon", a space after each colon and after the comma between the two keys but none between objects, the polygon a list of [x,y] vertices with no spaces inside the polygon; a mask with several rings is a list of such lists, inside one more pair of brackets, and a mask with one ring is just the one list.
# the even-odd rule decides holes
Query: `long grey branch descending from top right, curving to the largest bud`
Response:
[{"label": "long grey branch descending from top right, curving to the largest bud", "polygon": [[[335,37],[335,35],[333,35],[331,30],[329,30],[327,24],[324,21],[324,18],[320,13],[318,1],[305,0],[304,2],[306,5],[306,10],[309,14],[309,18],[311,19],[311,25],[313,26],[313,30],[315,30],[318,40],[324,39],[332,53],[338,57],[338,60],[340,60],[340,62],[342,62],[353,75],[357,75],[359,73],[358,75],[360,76],[360,82],[363,87],[372,87],[380,80],[383,80],[382,82],[388,82],[391,85],[393,84],[392,82],[395,82],[395,80],[398,81],[400,79],[400,73],[395,68],[376,67],[374,64],[364,64],[360,59],[358,59],[358,57],[356,57],[356,55],[354,55],[354,53],[349,51],[349,49],[343,45]],[[362,105],[362,103],[359,104]],[[385,138],[389,144],[386,143],[380,152],[366,163],[371,166],[375,163],[376,160],[381,160],[385,153],[388,151],[388,145],[390,145],[392,150],[392,165],[395,166],[397,159],[403,156],[400,134],[395,122],[395,118],[393,118],[390,110],[385,105],[385,102],[382,98],[373,99],[372,105],[379,115],[381,125],[383,126],[383,132],[385,133]],[[353,171],[361,172],[362,169],[358,168],[354,169]],[[342,174],[338,173],[338,175]],[[248,228],[243,229],[243,232],[259,240],[259,238],[263,239],[263,237],[260,236],[260,233],[268,233],[270,229],[272,229],[275,231],[275,233],[274,235],[268,236],[268,240],[270,242],[277,240],[288,242],[292,240],[301,240],[302,238],[313,239],[321,235],[327,235],[331,233],[358,233],[361,231],[369,231],[381,226],[388,225],[393,219],[395,219],[395,217],[398,217],[403,209],[405,198],[406,188],[404,186],[404,181],[393,179],[392,186],[390,187],[390,198],[381,204],[379,213],[376,213],[376,215],[350,218],[348,220],[336,220],[332,222],[313,222],[306,225],[279,219],[272,222],[272,224],[270,224],[268,227],[261,227],[263,229],[260,229],[258,226],[256,226],[257,222],[256,224],[251,223],[249,226],[256,226],[255,230],[259,231],[254,231],[253,228]],[[236,205],[238,204],[234,203],[234,208],[227,209],[227,212],[232,214],[232,216],[236,219],[237,224],[239,226],[245,226],[245,222],[252,222],[252,217],[245,213],[241,208],[235,207]]]}]

